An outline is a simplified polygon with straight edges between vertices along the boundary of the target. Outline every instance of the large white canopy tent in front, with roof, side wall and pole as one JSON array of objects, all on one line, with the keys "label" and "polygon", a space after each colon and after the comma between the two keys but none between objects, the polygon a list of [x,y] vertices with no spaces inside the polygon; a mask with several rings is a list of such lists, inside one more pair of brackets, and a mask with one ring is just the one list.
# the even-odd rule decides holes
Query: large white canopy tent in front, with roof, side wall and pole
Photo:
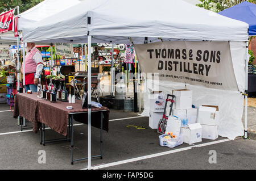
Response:
[{"label": "large white canopy tent in front, with roof, side wall and pole", "polygon": [[[35,43],[88,43],[88,52],[91,50],[91,43],[131,44],[132,40],[134,44],[143,44],[145,37],[148,43],[160,41],[159,38],[163,41],[230,41],[238,88],[240,91],[245,91],[247,89],[247,71],[245,72],[247,30],[246,23],[226,18],[181,0],[130,0],[129,3],[119,0],[86,0],[35,23],[32,27],[24,28],[23,40]],[[90,56],[89,53],[88,60],[91,59]],[[91,80],[90,64],[91,62],[88,61],[88,87]],[[159,85],[165,90],[184,87],[184,84],[174,82],[160,82]],[[196,90],[193,95],[196,106],[207,101],[218,104],[220,110],[223,110],[221,136],[232,139],[242,136],[243,96],[238,91],[212,90],[189,85],[187,87]],[[90,93],[88,89],[88,104],[91,103]],[[146,99],[147,97],[144,100]],[[145,104],[144,108],[148,109]],[[90,128],[89,108],[89,169],[91,166]]]}]

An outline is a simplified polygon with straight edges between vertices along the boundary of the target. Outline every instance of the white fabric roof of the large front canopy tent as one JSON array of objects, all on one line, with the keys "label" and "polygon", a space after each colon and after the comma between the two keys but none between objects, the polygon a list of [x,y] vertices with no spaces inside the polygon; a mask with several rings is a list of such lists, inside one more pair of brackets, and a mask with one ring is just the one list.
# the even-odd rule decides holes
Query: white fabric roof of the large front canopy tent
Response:
[{"label": "white fabric roof of the large front canopy tent", "polygon": [[[87,26],[87,18],[91,24]],[[86,0],[53,16],[27,26],[26,42],[143,43],[169,39],[246,41],[248,24],[226,18],[181,0]],[[230,33],[232,32],[232,33]]]}]

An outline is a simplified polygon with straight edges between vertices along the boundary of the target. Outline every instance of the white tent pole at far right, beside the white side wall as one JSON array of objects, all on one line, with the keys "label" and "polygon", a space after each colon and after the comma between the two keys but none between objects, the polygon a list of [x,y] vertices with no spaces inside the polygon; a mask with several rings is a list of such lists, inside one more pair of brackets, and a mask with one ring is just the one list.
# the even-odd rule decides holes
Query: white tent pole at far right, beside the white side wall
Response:
[{"label": "white tent pole at far right, beside the white side wall", "polygon": [[247,139],[247,98],[248,98],[248,41],[246,41],[246,52],[245,52],[245,139]]}]

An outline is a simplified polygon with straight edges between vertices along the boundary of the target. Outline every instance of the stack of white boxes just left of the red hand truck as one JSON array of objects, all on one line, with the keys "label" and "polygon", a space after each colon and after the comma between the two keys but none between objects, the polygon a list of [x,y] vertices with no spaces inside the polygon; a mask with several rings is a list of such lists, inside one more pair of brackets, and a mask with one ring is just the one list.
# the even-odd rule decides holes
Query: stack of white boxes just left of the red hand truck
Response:
[{"label": "stack of white boxes just left of the red hand truck", "polygon": [[159,120],[163,117],[166,95],[162,91],[152,91],[150,93],[150,116],[149,127],[158,128]]}]

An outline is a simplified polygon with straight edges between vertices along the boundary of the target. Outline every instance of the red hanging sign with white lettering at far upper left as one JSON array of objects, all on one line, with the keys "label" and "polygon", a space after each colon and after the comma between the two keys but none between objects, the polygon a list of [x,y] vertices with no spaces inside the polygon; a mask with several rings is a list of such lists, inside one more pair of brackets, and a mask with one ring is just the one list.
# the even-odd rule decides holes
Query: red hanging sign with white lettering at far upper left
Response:
[{"label": "red hanging sign with white lettering at far upper left", "polygon": [[13,30],[13,10],[0,15],[0,33]]}]

